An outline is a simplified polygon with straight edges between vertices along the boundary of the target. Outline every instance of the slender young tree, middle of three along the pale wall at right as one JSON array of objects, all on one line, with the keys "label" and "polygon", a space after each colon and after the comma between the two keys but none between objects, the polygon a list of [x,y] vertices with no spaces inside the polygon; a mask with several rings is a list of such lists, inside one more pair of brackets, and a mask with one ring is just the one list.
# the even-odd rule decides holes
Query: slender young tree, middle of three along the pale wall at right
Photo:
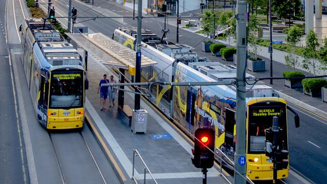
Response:
[{"label": "slender young tree, middle of three along the pale wall at right", "polygon": [[313,71],[313,76],[319,68],[317,67],[318,62],[318,51],[317,47],[319,46],[318,43],[318,36],[312,31],[309,30],[308,35],[305,38],[305,47],[304,47],[304,59],[302,63],[302,67],[307,69],[311,72]]}]

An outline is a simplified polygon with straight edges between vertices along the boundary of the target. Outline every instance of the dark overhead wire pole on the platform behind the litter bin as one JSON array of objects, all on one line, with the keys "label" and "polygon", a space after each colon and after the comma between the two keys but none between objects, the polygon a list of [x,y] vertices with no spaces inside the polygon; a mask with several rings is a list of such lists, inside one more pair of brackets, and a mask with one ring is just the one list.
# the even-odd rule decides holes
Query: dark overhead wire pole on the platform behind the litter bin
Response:
[{"label": "dark overhead wire pole on the platform behind the litter bin", "polygon": [[[135,82],[141,81],[141,40],[142,40],[142,0],[137,1],[137,37],[136,37],[136,71],[135,71]],[[140,93],[138,85],[135,88],[136,93]],[[135,93],[134,110],[140,109],[140,98],[139,94]]]}]

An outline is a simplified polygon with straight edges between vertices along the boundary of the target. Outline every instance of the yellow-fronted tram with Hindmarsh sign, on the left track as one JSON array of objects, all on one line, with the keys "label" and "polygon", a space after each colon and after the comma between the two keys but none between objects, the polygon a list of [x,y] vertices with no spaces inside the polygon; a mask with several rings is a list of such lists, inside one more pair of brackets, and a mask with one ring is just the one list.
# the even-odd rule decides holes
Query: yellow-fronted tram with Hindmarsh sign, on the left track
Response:
[{"label": "yellow-fronted tram with Hindmarsh sign, on the left track", "polygon": [[20,27],[22,62],[36,115],[46,129],[82,128],[85,63],[50,23],[27,19]]}]

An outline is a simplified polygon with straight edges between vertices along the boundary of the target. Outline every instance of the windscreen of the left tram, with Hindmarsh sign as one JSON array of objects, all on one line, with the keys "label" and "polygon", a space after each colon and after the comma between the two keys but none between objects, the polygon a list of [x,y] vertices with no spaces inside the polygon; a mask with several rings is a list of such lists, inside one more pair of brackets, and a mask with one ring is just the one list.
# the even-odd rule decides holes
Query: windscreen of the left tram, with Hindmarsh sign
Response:
[{"label": "windscreen of the left tram, with Hindmarsh sign", "polygon": [[83,72],[53,72],[50,84],[50,108],[83,107]]}]

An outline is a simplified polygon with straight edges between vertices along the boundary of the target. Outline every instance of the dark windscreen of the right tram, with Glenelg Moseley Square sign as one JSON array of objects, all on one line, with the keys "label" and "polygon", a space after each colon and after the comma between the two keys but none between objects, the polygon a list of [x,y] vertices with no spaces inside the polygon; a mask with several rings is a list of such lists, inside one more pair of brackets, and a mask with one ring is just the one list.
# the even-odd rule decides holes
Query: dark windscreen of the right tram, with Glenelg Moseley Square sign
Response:
[{"label": "dark windscreen of the right tram, with Glenelg Moseley Square sign", "polygon": [[[276,103],[275,103],[276,104]],[[249,106],[248,153],[265,153],[265,130],[273,126],[273,117],[278,117],[279,127],[283,130],[282,146],[287,149],[286,105]]]}]

